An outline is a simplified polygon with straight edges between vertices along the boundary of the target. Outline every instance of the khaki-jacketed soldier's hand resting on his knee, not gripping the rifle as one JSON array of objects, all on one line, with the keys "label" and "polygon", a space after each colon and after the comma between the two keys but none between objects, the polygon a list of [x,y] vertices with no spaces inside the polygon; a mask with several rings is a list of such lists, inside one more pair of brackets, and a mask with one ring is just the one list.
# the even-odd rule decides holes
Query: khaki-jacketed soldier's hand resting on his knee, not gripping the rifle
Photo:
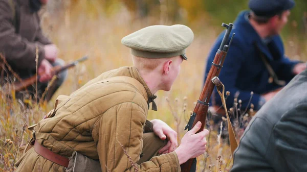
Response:
[{"label": "khaki-jacketed soldier's hand resting on his knee, not gripping the rifle", "polygon": [[177,132],[171,129],[165,122],[159,119],[151,120],[153,133],[155,133],[161,140],[167,138],[167,144],[160,149],[159,154],[167,154],[173,152],[177,146]]}]

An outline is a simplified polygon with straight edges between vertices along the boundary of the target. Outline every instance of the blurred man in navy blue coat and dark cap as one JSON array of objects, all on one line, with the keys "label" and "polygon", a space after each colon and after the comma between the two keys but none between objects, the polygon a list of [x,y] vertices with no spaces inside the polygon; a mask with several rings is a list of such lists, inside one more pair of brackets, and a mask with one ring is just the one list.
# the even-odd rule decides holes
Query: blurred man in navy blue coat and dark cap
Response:
[{"label": "blurred man in navy blue coat and dark cap", "polygon": [[[237,100],[242,100],[242,109],[245,109],[253,91],[251,103],[255,110],[260,109],[276,90],[305,69],[304,63],[289,60],[284,55],[279,36],[293,7],[293,0],[250,0],[251,10],[237,16],[232,30],[235,36],[219,77],[225,90],[230,91],[228,108],[233,106],[237,92]],[[218,36],[209,54],[205,80],[224,34]],[[211,106],[221,105],[221,98],[214,89]]]}]

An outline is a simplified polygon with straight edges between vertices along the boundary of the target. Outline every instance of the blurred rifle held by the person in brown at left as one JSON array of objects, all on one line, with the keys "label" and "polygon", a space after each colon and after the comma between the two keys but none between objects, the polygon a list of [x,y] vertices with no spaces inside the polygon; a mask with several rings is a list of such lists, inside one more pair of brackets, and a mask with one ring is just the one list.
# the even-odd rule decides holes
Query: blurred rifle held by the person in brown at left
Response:
[{"label": "blurred rifle held by the person in brown at left", "polygon": [[[62,72],[63,70],[65,69],[69,69],[71,67],[74,67],[76,66],[79,62],[82,62],[82,61],[85,61],[87,60],[88,57],[85,56],[85,57],[82,57],[72,63],[69,63],[67,65],[64,65],[64,66],[55,66],[52,68],[52,72],[54,75],[58,75],[58,73]],[[14,82],[12,83],[13,84],[13,89],[15,91],[21,91],[21,90],[24,90],[26,89],[27,87],[29,87],[30,85],[34,84],[35,81],[36,81],[36,77],[39,79],[39,76],[37,76],[36,74],[30,78],[27,78],[25,80],[21,80],[20,82]]]}]

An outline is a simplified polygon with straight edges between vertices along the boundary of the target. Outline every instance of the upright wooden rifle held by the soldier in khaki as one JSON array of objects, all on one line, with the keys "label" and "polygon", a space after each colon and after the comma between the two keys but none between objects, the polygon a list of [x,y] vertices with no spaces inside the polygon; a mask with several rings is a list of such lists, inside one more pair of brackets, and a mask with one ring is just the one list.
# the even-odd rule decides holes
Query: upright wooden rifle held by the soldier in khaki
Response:
[{"label": "upright wooden rifle held by the soldier in khaki", "polygon": [[[234,33],[233,33],[231,40],[230,40],[230,43],[228,45],[226,45],[226,42],[228,41],[228,38],[229,38],[229,35],[231,33],[233,24],[229,23],[229,25],[228,25],[228,24],[223,23],[222,26],[227,29],[226,33],[224,35],[224,38],[223,38],[223,41],[221,43],[220,48],[217,50],[217,52],[215,54],[214,60],[212,62],[212,65],[211,65],[211,68],[209,70],[206,82],[205,82],[204,87],[203,87],[203,90],[201,92],[199,100],[197,101],[197,103],[195,105],[193,114],[191,115],[189,122],[186,125],[185,130],[186,129],[191,130],[198,121],[202,122],[202,127],[197,133],[202,131],[205,127],[207,112],[208,112],[208,107],[209,107],[209,100],[210,100],[212,91],[213,91],[214,86],[215,86],[213,84],[213,82],[211,81],[211,79],[213,77],[218,77],[218,75],[220,75],[221,69],[223,67],[223,63],[225,61],[225,57],[227,55],[227,51],[229,49],[232,38],[234,36]],[[181,164],[180,165],[181,171],[189,172],[191,167],[192,167],[192,164],[196,163],[196,161],[194,161],[194,160],[195,160],[195,158],[189,159],[187,162]]]}]

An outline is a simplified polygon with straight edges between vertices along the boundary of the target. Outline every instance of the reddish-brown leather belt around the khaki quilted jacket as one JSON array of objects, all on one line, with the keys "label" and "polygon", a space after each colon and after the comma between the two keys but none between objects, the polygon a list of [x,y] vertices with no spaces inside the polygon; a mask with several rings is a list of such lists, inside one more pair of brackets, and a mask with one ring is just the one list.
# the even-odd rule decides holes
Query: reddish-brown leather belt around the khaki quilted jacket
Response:
[{"label": "reddish-brown leather belt around the khaki quilted jacket", "polygon": [[48,159],[49,161],[52,161],[52,162],[59,164],[61,166],[64,166],[64,167],[68,167],[69,159],[67,157],[64,157],[62,155],[59,155],[59,154],[56,154],[56,153],[50,151],[49,149],[40,145],[36,140],[35,140],[35,143],[34,143],[34,151],[38,155]]}]

